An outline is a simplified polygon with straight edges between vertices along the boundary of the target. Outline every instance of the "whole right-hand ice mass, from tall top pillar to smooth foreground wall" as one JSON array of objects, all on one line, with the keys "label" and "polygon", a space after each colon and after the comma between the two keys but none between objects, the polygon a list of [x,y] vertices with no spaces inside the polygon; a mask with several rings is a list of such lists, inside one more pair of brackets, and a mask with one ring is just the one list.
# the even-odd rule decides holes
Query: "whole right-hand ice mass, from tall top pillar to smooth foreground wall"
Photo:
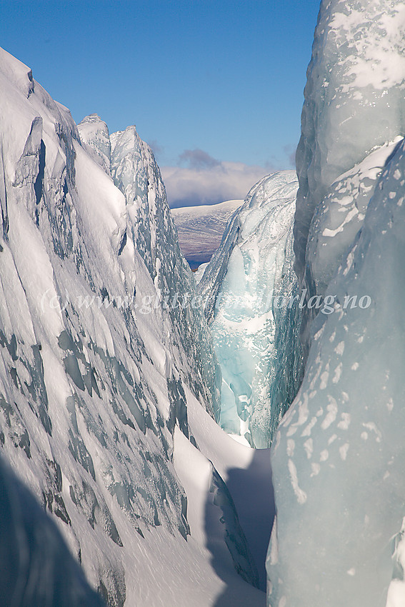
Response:
[{"label": "whole right-hand ice mass, from tall top pillar to smooth foreground wall", "polygon": [[307,72],[299,393],[271,447],[269,607],[405,604],[405,5],[323,0]]}]

